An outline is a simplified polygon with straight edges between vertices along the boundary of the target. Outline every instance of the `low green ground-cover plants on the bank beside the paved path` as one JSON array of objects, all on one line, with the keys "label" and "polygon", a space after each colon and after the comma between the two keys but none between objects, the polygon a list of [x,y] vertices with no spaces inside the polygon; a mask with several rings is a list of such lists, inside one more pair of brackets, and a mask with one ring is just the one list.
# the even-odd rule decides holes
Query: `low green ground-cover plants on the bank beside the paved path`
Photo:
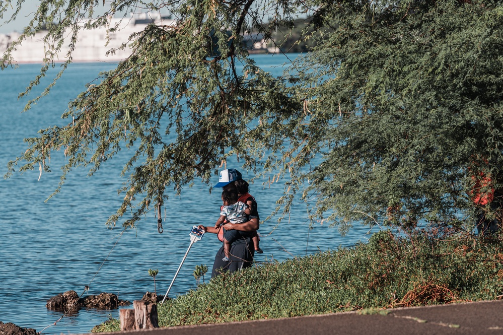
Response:
[{"label": "low green ground-cover plants on the bank beside the paved path", "polygon": [[[158,306],[159,326],[451,304],[503,297],[503,236],[414,231],[224,274]],[[109,319],[93,332],[119,331]]]}]

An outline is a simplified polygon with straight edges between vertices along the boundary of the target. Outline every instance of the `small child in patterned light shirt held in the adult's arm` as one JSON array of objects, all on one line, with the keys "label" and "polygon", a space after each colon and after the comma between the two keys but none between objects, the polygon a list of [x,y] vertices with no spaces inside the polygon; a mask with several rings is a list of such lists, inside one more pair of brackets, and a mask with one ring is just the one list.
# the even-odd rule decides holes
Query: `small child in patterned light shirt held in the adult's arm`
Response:
[{"label": "small child in patterned light shirt held in the adult's arm", "polygon": [[[222,202],[224,207],[220,212],[220,218],[215,223],[215,228],[219,228],[226,220],[231,223],[245,223],[251,214],[251,208],[245,203],[238,202],[238,192],[235,189],[224,190],[222,192]],[[224,261],[229,261],[231,255],[231,244],[240,238],[237,230],[226,230],[224,233]]]}]

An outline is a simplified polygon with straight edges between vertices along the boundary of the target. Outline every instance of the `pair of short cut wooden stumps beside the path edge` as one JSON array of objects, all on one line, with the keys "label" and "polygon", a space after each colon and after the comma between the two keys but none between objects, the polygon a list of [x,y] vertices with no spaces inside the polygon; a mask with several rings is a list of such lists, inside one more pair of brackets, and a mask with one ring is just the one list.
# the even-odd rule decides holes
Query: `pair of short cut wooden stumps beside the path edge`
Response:
[{"label": "pair of short cut wooden stumps beside the path edge", "polygon": [[120,330],[158,328],[157,305],[147,300],[134,300],[134,309],[119,311]]}]

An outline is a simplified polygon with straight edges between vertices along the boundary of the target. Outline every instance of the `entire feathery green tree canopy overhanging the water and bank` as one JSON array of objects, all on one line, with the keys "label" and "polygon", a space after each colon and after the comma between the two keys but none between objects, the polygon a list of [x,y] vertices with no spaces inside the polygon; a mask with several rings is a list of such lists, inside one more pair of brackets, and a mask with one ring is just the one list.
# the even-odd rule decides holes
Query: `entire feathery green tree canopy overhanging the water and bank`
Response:
[{"label": "entire feathery green tree canopy overhanging the water and bank", "polygon": [[[23,1],[4,2],[0,16],[11,5]],[[65,36],[78,43],[82,29],[113,32],[110,17],[137,8],[168,11],[176,24],[151,24],[124,41],[131,55],[71,102],[67,125],[29,139],[8,175],[18,164],[48,171],[51,151],[62,150],[64,181],[71,169],[92,174],[130,148],[124,202],[109,220],[132,207],[125,226],[149,202],[162,203],[167,188],[209,183],[230,155],[284,180],[278,210],[288,212],[300,193],[308,204],[315,198],[313,220],[342,229],[354,221],[411,228],[421,219],[460,226],[477,178],[500,186],[498,1],[42,0],[18,43],[56,23],[47,25],[43,76]],[[300,36],[314,47],[274,78],[248,56],[242,36],[270,40],[278,28],[293,29],[298,13],[311,15]],[[13,64],[14,47],[0,66]],[[63,70],[71,49],[66,59]],[[322,163],[312,164],[315,157]]]}]

